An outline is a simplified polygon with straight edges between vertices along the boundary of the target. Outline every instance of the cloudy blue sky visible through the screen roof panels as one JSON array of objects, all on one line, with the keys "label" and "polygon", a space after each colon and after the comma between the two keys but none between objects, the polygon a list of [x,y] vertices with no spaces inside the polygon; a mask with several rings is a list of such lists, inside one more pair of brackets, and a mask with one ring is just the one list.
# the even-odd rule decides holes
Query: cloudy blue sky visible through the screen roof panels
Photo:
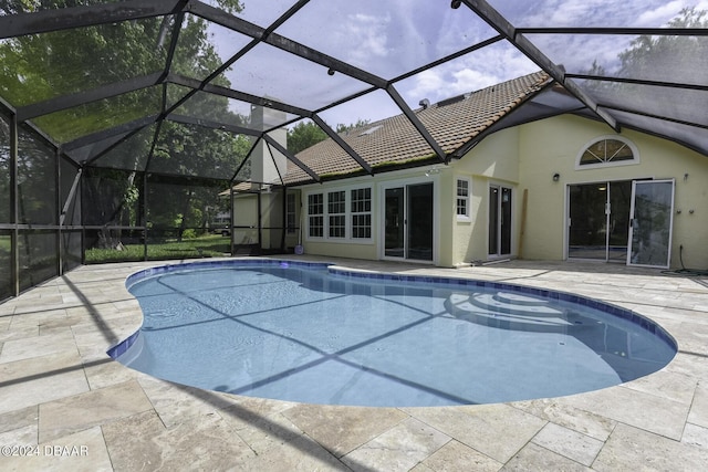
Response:
[{"label": "cloudy blue sky visible through the screen roof panels", "polygon": [[[243,0],[241,15],[268,27],[292,0]],[[514,27],[664,27],[683,8],[708,10],[708,0],[489,0]],[[392,81],[496,34],[465,6],[449,0],[312,0],[277,32],[347,64]],[[215,30],[216,31],[216,30]],[[241,41],[214,35],[217,50],[230,56]],[[633,36],[530,36],[553,62],[569,72],[586,71],[593,61],[612,72],[617,53]],[[366,84],[344,74],[330,76],[317,64],[285,57],[263,46],[247,54],[227,74],[237,90],[315,109]],[[394,83],[408,106],[418,107],[473,92],[539,67],[507,44],[496,43],[435,69]],[[375,122],[399,114],[384,92],[321,113],[331,126],[358,119]]]}]

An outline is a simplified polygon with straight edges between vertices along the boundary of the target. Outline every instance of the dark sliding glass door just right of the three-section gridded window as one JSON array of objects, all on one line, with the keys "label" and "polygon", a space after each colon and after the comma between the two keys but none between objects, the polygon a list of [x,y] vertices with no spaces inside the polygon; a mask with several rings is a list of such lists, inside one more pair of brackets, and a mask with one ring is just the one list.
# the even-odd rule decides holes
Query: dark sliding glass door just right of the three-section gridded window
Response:
[{"label": "dark sliding glass door just right of the three-section gridded window", "polygon": [[387,188],[384,256],[433,261],[433,183]]}]

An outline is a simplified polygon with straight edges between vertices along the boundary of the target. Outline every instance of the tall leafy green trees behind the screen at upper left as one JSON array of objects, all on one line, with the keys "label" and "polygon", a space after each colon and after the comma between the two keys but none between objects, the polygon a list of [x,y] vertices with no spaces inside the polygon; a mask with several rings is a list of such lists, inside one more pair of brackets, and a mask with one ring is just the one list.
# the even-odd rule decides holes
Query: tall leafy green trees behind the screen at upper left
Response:
[{"label": "tall leafy green trees behind the screen at upper left", "polygon": [[[30,13],[40,9],[94,3],[103,1],[0,0],[0,13]],[[243,8],[238,0],[218,0],[217,3],[231,13]],[[0,43],[0,95],[14,106],[23,106],[159,72],[166,66],[169,34],[175,30],[176,18],[146,18],[6,40]],[[170,71],[201,80],[220,65],[221,59],[210,42],[207,21],[185,15]],[[223,76],[216,78],[214,83],[229,86]],[[168,85],[166,92],[169,106],[189,91]],[[159,113],[162,96],[163,86],[158,85],[41,116],[34,123],[56,143],[62,144]],[[236,125],[248,119],[229,109],[228,98],[207,93],[196,94],[177,113]],[[173,122],[164,122],[155,146],[154,138],[155,127],[146,128],[146,133],[136,134],[100,161],[90,164],[108,168],[93,172],[91,179],[85,179],[83,187],[86,201],[94,206],[92,211],[84,208],[86,213],[91,213],[87,217],[93,224],[135,223],[135,207],[142,199],[142,185],[135,183],[139,181],[136,175],[152,150],[150,162],[162,171],[166,171],[169,166],[171,174],[192,176],[200,172],[204,175],[205,169],[208,169],[209,176],[215,180],[228,181],[250,148],[250,143],[242,136]],[[160,162],[160,159],[168,165]],[[178,189],[179,186],[175,188]],[[220,188],[223,188],[223,182]],[[171,212],[184,216],[180,224],[191,224],[191,221],[200,220],[204,201],[210,201],[218,191],[210,193],[185,188],[183,193],[185,198],[166,199],[166,202],[179,207]],[[117,247],[119,234],[106,233],[102,239],[107,247]]]}]

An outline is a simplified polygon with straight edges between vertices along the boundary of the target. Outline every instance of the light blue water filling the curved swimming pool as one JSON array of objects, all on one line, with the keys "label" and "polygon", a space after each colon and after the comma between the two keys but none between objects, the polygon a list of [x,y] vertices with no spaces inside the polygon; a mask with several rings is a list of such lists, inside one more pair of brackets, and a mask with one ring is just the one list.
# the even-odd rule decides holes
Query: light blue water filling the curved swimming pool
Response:
[{"label": "light blue water filling the curved swimming pool", "polygon": [[131,276],[139,332],[110,354],[163,379],[310,403],[445,406],[558,397],[656,371],[653,322],[508,284],[231,260]]}]

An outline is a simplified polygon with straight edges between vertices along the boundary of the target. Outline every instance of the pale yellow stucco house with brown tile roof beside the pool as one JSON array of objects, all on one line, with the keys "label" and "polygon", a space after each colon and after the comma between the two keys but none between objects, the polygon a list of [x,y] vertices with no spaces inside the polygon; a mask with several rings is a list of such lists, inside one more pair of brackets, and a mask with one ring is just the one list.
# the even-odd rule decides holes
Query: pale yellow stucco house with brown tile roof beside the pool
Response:
[{"label": "pale yellow stucco house with brown tile roof beside the pool", "polygon": [[[373,172],[324,140],[296,156],[322,180],[288,161],[284,175],[261,176],[288,189],[261,212],[284,214],[285,245],[325,256],[707,268],[706,156],[615,132],[582,108],[543,72],[424,101],[416,116],[447,159],[394,116],[340,136]],[[243,195],[235,193],[237,220]]]}]

